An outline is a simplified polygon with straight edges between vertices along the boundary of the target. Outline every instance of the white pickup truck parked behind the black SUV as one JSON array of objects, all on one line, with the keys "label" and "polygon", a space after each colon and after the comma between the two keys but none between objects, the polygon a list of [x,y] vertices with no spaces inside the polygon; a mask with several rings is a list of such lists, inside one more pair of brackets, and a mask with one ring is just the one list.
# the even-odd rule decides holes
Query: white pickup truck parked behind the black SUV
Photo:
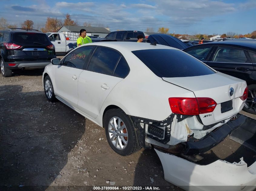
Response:
[{"label": "white pickup truck parked behind the black SUV", "polygon": [[76,43],[76,40],[68,40],[69,38],[63,33],[48,32],[45,34],[47,34],[52,44],[54,44],[56,53],[67,53],[70,49],[68,44]]}]

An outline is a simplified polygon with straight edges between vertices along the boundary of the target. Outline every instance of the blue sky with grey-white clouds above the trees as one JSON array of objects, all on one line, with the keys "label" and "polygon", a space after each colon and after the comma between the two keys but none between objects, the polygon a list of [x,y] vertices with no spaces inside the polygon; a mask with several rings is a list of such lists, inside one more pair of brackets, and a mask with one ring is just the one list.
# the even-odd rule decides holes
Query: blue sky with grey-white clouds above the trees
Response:
[{"label": "blue sky with grey-white clouds above the trees", "polygon": [[47,17],[64,19],[65,14],[111,31],[168,27],[173,33],[251,33],[256,30],[255,0],[0,0],[0,17],[11,24],[29,19],[44,24]]}]

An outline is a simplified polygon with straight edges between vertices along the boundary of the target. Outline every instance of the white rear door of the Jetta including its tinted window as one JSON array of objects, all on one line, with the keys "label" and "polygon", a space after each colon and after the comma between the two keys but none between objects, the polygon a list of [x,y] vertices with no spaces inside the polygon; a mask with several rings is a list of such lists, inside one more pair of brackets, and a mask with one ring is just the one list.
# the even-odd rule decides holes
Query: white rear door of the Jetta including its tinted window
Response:
[{"label": "white rear door of the Jetta including its tinted window", "polygon": [[128,64],[118,51],[97,47],[87,70],[79,76],[78,109],[96,118],[108,94],[128,72]]}]

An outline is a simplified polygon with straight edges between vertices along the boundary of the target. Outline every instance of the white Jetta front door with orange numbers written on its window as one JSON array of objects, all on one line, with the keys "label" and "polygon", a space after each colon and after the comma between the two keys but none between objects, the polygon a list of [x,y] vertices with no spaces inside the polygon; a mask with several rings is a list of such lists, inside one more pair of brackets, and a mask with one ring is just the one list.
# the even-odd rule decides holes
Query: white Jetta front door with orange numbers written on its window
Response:
[{"label": "white Jetta front door with orange numbers written on its window", "polygon": [[75,108],[78,103],[78,78],[93,48],[94,46],[82,46],[74,50],[55,69],[56,95]]}]

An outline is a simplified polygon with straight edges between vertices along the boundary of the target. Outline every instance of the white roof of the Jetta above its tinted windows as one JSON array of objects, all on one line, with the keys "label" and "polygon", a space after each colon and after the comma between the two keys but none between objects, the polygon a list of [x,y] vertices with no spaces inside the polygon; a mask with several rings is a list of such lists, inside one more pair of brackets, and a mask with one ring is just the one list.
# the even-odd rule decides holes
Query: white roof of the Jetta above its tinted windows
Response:
[{"label": "white roof of the Jetta above its tinted windows", "polygon": [[[171,46],[165,46],[157,44],[156,46],[150,45],[150,43],[137,43],[137,42],[95,42],[88,43],[82,46],[88,45],[98,45],[98,46],[106,46],[109,48],[116,49],[118,51],[134,51],[134,50],[145,50],[145,49],[176,49]],[[79,46],[81,47],[81,46]]]}]

